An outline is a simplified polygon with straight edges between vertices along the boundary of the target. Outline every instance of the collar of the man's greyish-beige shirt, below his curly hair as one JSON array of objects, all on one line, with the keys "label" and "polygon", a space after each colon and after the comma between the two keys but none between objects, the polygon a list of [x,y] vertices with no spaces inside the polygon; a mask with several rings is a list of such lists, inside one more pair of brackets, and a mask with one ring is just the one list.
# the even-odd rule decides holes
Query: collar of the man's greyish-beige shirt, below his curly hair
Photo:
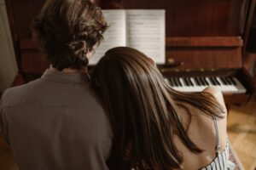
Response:
[{"label": "collar of the man's greyish-beige shirt, below his curly hair", "polygon": [[47,69],[41,77],[50,82],[63,82],[63,83],[82,83],[89,82],[89,77],[82,72],[67,73],[62,71],[54,71]]}]

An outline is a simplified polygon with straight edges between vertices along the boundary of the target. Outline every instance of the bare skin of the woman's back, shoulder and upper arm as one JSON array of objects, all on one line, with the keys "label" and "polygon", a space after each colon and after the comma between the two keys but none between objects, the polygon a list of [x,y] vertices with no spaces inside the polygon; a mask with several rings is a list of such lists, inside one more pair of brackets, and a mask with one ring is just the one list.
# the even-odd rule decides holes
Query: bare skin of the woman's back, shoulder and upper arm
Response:
[{"label": "bare skin of the woman's back, shoulder and upper arm", "polygon": [[[176,143],[177,148],[183,154],[184,167],[203,167],[211,162],[216,156],[217,140],[219,140],[220,151],[223,151],[227,143],[226,133],[226,107],[224,104],[223,94],[218,88],[206,88],[203,92],[211,94],[212,97],[224,108],[224,117],[217,119],[217,126],[214,123],[213,116],[203,113],[200,109],[192,105],[186,105],[187,110],[181,111],[181,116],[186,121],[185,127],[188,127],[187,133],[189,138],[201,149],[204,150],[201,154],[195,155],[188,151],[183,144]],[[187,111],[190,112],[187,114]],[[223,113],[221,113],[223,114]],[[223,116],[223,115],[222,115]],[[189,121],[190,118],[190,121]],[[188,126],[186,126],[188,125]],[[217,133],[218,131],[218,133]]]}]

